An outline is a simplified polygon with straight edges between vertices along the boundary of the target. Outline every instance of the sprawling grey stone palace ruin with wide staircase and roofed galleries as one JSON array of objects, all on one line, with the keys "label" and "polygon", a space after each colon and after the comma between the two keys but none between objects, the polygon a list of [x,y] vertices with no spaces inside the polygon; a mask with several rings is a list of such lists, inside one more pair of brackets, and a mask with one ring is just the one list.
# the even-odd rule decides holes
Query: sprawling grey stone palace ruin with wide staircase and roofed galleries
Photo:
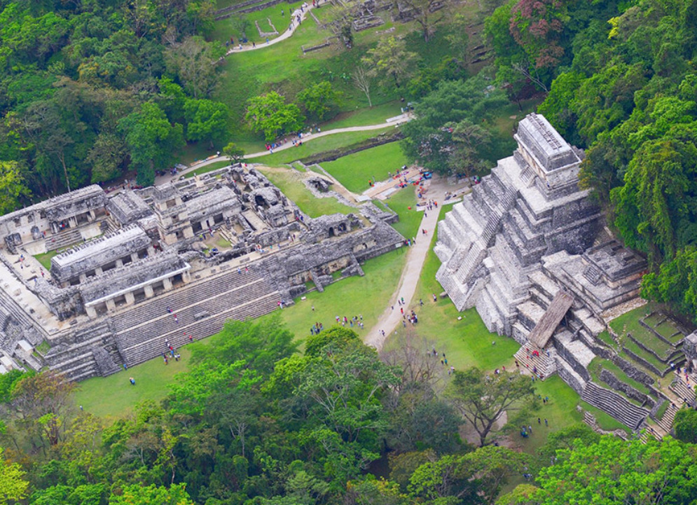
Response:
[{"label": "sprawling grey stone palace ruin with wide staircase and roofed galleries", "polygon": [[[362,275],[399,247],[391,212],[312,219],[254,168],[106,195],[88,186],[0,217],[0,372],[108,375]],[[52,254],[50,270],[34,256]]]}]

